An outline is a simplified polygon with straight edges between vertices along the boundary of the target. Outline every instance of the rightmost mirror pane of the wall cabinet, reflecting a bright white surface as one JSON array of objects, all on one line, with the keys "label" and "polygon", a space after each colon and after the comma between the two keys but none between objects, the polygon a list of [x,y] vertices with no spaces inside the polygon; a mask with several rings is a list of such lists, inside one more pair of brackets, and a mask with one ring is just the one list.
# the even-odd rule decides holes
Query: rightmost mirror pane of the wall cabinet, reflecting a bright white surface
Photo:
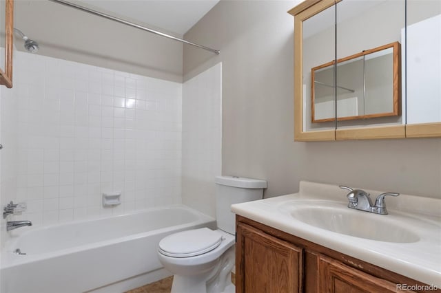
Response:
[{"label": "rightmost mirror pane of the wall cabinet, reflecting a bright white surface", "polygon": [[440,1],[408,0],[402,38],[407,39],[407,124],[441,122]]}]

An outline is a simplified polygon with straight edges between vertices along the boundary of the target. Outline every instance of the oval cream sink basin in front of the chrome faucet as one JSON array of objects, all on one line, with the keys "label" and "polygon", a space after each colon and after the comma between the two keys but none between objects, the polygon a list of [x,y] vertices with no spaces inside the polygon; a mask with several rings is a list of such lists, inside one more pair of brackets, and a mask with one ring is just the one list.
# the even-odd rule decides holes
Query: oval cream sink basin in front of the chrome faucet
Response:
[{"label": "oval cream sink basin in front of the chrome faucet", "polygon": [[376,215],[341,206],[299,206],[290,210],[294,219],[317,228],[352,237],[384,242],[411,243],[416,233],[400,226],[391,215]]}]

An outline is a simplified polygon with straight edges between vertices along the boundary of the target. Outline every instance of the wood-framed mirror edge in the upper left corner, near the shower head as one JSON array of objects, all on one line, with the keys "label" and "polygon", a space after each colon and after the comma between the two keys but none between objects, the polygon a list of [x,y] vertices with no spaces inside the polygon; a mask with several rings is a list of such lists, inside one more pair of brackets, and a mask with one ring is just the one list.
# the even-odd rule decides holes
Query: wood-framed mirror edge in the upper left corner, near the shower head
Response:
[{"label": "wood-framed mirror edge in the upper left corner, near the shower head", "polygon": [[0,48],[4,52],[0,68],[0,85],[12,87],[12,49],[14,42],[14,0],[0,0]]}]

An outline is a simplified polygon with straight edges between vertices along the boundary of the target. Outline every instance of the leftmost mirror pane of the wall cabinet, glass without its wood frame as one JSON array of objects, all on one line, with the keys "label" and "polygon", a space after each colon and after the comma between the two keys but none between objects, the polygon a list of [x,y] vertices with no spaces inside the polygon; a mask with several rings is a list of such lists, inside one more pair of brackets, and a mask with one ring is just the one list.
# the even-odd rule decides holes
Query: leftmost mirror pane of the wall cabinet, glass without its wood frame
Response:
[{"label": "leftmost mirror pane of the wall cabinet, glass without its wood frame", "polygon": [[[335,60],[335,6],[331,6],[322,12],[303,21],[303,131],[335,129],[335,91],[334,91],[334,63]],[[311,67],[321,65],[317,72],[311,72]],[[318,80],[323,85],[311,82],[312,75],[318,74]],[[314,107],[311,101],[313,92],[318,91],[320,105]],[[318,111],[314,114],[314,109]],[[312,123],[314,117],[319,115],[323,123]],[[311,120],[311,117],[313,118]]]}]

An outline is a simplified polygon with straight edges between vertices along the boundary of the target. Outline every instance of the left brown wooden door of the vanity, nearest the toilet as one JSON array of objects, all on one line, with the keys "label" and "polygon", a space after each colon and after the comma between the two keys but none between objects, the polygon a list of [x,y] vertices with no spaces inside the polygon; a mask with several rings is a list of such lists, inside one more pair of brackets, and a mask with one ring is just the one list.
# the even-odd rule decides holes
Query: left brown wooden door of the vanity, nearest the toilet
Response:
[{"label": "left brown wooden door of the vanity, nearest the toilet", "polygon": [[236,292],[302,292],[302,248],[238,223]]}]

